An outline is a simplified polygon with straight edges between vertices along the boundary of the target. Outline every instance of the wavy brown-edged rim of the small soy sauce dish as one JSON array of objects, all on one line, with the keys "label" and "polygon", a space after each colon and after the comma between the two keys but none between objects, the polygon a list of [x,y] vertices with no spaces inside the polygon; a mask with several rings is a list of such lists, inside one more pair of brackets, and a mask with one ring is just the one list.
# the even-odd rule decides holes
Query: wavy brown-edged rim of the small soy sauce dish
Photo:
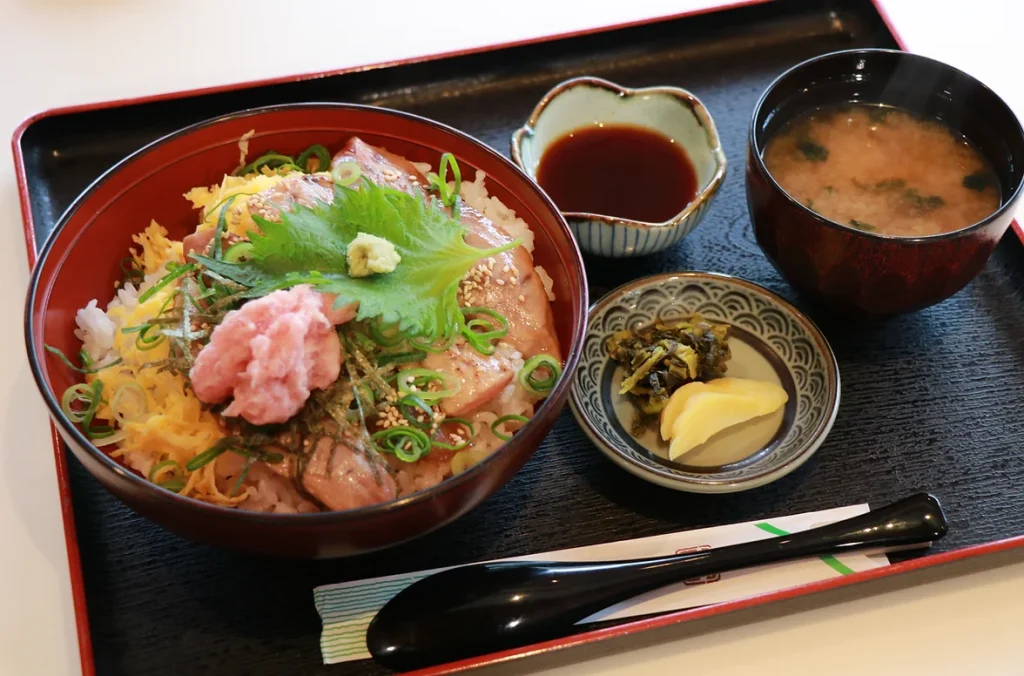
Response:
[{"label": "wavy brown-edged rim of the small soy sauce dish", "polygon": [[[645,94],[658,94],[675,98],[681,101],[683,104],[688,105],[696,117],[697,122],[703,128],[705,132],[708,134],[708,149],[711,151],[712,157],[715,158],[715,173],[712,174],[711,180],[708,184],[703,186],[693,199],[683,207],[683,209],[673,215],[671,218],[660,221],[660,222],[650,222],[645,220],[636,220],[633,218],[625,218],[622,216],[609,216],[607,214],[592,213],[589,211],[563,211],[562,215],[566,219],[573,220],[593,220],[605,223],[607,225],[629,227],[636,229],[664,229],[672,228],[680,225],[689,216],[700,208],[700,206],[715,197],[718,193],[718,188],[721,187],[722,182],[725,180],[726,170],[728,169],[728,162],[726,161],[725,151],[722,150],[722,139],[718,134],[718,127],[715,126],[715,120],[711,117],[711,113],[708,111],[708,107],[701,102],[692,92],[682,87],[672,87],[668,85],[657,86],[657,87],[639,87],[631,88],[624,87],[620,84],[615,84],[610,80],[605,80],[604,78],[598,78],[594,76],[580,76],[575,78],[569,78],[568,80],[563,80],[557,85],[552,87],[548,93],[546,93],[541,100],[534,108],[532,113],[526,119],[526,122],[512,132],[511,139],[511,155],[512,161],[515,163],[519,169],[529,176],[529,179],[537,183],[537,177],[534,173],[526,170],[526,167],[522,161],[522,140],[526,136],[532,136],[535,132],[535,127],[540,121],[541,116],[547,110],[548,105],[558,96],[562,95],[570,89],[577,87],[591,87],[594,89],[604,89],[605,91],[610,91],[612,93],[618,94],[623,98],[633,98],[637,95]],[[643,127],[649,131],[654,131],[656,133],[662,133],[660,130],[653,127]],[[543,191],[544,188],[541,187]]]}]

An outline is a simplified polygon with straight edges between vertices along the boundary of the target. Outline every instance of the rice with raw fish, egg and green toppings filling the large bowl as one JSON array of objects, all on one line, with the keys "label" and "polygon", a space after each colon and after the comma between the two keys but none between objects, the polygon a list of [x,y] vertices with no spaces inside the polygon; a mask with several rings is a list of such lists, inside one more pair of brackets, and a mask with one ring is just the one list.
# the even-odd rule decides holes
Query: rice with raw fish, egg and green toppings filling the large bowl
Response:
[{"label": "rice with raw fish, egg and green toppings filling the large bowl", "polygon": [[495,453],[563,366],[527,223],[450,154],[250,161],[249,135],[184,195],[195,231],[140,222],[81,351],[46,346],[82,374],[65,415],[156,485],[260,512],[385,503]]}]

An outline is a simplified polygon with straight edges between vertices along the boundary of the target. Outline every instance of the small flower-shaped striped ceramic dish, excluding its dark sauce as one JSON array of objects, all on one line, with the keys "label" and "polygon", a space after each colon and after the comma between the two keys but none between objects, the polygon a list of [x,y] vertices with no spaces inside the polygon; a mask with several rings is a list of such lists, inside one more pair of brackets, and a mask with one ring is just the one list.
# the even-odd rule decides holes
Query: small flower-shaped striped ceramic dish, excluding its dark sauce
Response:
[{"label": "small flower-shaped striped ceramic dish, excluding its dark sauce", "polygon": [[565,212],[580,248],[598,256],[645,256],[675,246],[703,218],[725,179],[725,153],[700,100],[678,87],[628,89],[600,78],[573,78],[549,91],[512,135],[512,161],[537,180],[544,151],[574,129],[624,124],[657,131],[679,143],[693,162],[697,195],[663,223],[604,214]]}]

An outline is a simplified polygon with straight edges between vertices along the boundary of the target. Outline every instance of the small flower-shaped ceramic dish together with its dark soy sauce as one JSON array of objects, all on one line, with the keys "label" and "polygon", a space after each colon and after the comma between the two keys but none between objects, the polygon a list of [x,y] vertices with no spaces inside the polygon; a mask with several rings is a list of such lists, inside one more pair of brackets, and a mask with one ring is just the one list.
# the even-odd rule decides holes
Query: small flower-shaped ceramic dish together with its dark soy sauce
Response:
[{"label": "small flower-shaped ceramic dish together with its dark soy sauce", "polygon": [[703,104],[677,87],[567,80],[512,136],[512,159],[551,197],[580,248],[642,256],[703,218],[726,161]]}]

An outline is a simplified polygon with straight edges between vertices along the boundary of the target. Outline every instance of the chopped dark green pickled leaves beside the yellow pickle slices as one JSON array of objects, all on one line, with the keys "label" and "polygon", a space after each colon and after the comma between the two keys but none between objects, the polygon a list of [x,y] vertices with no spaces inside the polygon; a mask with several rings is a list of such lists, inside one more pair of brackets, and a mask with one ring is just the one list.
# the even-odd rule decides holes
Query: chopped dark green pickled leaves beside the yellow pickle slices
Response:
[{"label": "chopped dark green pickled leaves beside the yellow pickle slices", "polygon": [[620,394],[629,394],[637,408],[632,427],[635,435],[657,419],[677,389],[725,374],[732,356],[728,338],[728,326],[712,324],[699,314],[608,337],[608,354],[626,370]]}]

